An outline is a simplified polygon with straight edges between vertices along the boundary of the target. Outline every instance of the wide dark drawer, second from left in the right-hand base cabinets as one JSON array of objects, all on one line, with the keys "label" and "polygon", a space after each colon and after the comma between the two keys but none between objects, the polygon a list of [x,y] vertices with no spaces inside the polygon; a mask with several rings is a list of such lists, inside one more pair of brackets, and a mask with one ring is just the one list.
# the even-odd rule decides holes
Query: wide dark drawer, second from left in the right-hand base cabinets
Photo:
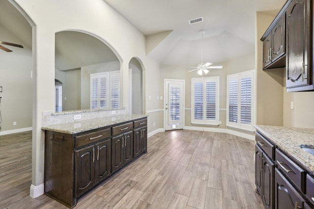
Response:
[{"label": "wide dark drawer, second from left in the right-hand base cabinets", "polygon": [[277,168],[295,184],[295,186],[305,192],[306,172],[278,149],[276,149],[276,165]]}]

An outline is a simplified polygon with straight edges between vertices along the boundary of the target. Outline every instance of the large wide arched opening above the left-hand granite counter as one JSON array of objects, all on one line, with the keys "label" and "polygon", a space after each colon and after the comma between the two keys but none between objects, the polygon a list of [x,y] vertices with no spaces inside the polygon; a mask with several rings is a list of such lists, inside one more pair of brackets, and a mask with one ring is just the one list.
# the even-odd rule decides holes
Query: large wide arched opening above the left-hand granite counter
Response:
[{"label": "large wide arched opening above the left-hand granite counter", "polygon": [[92,34],[55,33],[55,78],[63,83],[63,111],[122,106],[119,58]]}]

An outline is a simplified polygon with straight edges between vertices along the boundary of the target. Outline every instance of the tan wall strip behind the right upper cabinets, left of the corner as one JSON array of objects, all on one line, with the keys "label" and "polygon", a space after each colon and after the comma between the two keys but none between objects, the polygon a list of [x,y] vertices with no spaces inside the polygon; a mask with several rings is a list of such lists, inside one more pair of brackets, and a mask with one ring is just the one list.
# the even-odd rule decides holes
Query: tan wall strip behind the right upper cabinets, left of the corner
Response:
[{"label": "tan wall strip behind the right upper cabinets, left of the corner", "polygon": [[256,14],[257,124],[283,125],[284,70],[262,70],[262,35],[273,16]]}]

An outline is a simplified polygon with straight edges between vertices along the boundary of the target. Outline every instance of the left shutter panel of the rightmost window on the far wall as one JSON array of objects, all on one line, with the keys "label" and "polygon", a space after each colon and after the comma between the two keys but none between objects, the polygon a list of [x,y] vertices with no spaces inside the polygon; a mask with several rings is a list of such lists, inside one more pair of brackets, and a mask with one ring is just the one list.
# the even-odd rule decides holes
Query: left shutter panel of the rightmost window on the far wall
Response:
[{"label": "left shutter panel of the rightmost window on the far wall", "polygon": [[237,123],[238,81],[229,81],[229,121]]}]

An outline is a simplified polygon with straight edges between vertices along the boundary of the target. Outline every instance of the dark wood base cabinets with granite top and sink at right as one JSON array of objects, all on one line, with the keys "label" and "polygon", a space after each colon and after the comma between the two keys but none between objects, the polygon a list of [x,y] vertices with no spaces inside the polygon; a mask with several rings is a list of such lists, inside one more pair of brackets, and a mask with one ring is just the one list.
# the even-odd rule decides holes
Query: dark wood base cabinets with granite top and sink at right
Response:
[{"label": "dark wood base cabinets with granite top and sink at right", "polygon": [[[255,184],[265,208],[314,208],[314,129],[255,126]],[[303,148],[301,148],[303,147]]]}]

